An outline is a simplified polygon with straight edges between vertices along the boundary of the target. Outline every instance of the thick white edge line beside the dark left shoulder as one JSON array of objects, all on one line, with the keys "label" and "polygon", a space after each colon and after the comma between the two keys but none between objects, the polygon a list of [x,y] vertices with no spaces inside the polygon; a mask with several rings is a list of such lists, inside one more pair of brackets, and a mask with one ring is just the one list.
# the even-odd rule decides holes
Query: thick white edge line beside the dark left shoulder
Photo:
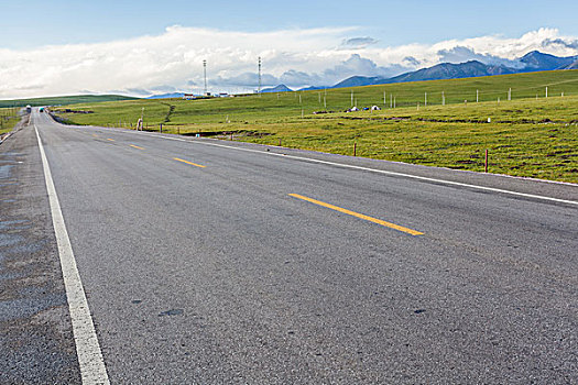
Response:
[{"label": "thick white edge line beside the dark left shoulder", "polygon": [[42,146],[36,124],[34,124],[34,131],[36,131],[42,165],[44,167],[44,178],[46,180],[52,221],[54,224],[56,243],[58,245],[61,267],[63,271],[66,297],[68,299],[68,310],[70,312],[74,342],[76,344],[83,385],[108,385],[110,382],[108,380],[105,360],[102,359],[102,352],[100,351],[100,345],[98,343],[95,324],[92,323],[90,309],[88,308],[88,301],[86,300],[83,282],[80,280],[80,275],[76,267],[76,260],[64,223],[61,204],[56,195],[51,168],[48,166],[46,153]]}]

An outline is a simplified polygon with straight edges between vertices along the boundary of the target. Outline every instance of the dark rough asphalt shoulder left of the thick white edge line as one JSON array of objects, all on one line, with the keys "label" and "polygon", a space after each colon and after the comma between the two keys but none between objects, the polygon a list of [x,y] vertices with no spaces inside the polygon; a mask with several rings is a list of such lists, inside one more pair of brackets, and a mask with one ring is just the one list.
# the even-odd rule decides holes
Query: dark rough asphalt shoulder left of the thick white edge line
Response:
[{"label": "dark rough asphalt shoulder left of the thick white edge line", "polygon": [[0,146],[0,383],[79,384],[32,127]]}]

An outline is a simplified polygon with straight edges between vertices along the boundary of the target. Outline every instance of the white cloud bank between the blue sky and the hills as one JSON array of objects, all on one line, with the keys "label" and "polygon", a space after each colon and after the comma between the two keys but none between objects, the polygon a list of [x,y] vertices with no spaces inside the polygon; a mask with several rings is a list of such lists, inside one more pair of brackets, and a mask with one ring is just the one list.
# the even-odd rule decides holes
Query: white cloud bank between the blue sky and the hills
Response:
[{"label": "white cloud bank between the blue sky and the hills", "polygon": [[248,33],[171,26],[161,35],[108,43],[0,48],[0,99],[199,92],[203,59],[208,63],[209,90],[241,92],[257,88],[259,56],[263,87],[301,88],[330,86],[355,75],[391,77],[446,62],[516,67],[516,58],[534,50],[578,54],[578,38],[556,29],[516,38],[490,35],[401,46],[386,46],[379,37],[360,35],[356,28]]}]

